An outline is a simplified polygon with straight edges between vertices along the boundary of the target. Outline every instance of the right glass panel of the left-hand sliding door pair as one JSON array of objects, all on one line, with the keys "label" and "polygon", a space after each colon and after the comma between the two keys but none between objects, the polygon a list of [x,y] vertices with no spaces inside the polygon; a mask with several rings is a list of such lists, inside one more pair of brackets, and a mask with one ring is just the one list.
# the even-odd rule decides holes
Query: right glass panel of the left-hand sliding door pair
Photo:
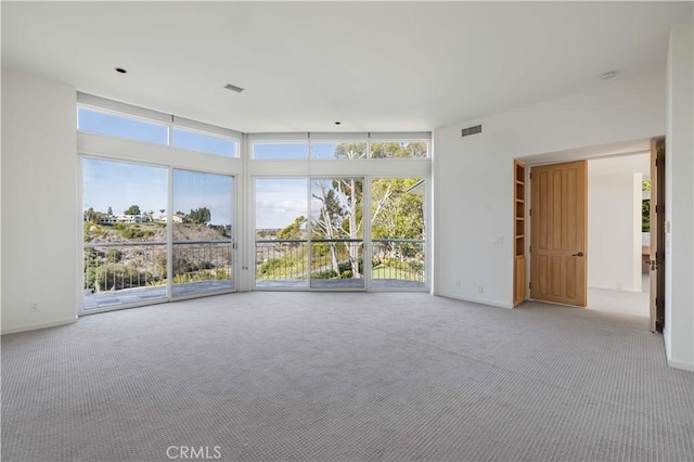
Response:
[{"label": "right glass panel of the left-hand sliding door pair", "polygon": [[174,169],[172,296],[234,288],[233,179]]}]

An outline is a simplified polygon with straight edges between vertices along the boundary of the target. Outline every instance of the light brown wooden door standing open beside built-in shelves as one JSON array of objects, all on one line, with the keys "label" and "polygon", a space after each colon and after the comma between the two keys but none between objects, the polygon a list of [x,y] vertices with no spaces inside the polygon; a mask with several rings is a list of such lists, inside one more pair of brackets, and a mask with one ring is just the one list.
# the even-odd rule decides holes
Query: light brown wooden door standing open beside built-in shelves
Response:
[{"label": "light brown wooden door standing open beside built-in shelves", "polygon": [[530,298],[584,307],[587,162],[534,167],[530,184]]}]

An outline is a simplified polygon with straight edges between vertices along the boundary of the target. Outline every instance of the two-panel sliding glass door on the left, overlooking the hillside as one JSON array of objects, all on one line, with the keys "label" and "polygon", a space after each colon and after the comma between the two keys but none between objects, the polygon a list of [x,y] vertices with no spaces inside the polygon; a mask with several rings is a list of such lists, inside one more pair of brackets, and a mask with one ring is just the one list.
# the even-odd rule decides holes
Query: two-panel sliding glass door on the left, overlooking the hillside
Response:
[{"label": "two-panel sliding glass door on the left, overlooking the hillside", "polygon": [[235,288],[233,204],[230,176],[85,157],[82,312]]}]

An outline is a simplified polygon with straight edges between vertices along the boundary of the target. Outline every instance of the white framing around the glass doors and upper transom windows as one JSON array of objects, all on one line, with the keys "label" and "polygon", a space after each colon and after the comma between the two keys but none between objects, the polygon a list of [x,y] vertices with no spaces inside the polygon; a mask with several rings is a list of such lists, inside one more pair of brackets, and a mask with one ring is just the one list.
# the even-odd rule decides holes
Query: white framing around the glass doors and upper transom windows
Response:
[{"label": "white framing around the glass doors and upper transom windows", "polygon": [[[169,127],[180,128],[187,131],[201,132],[213,137],[221,136],[237,142],[236,157],[228,157],[219,154],[210,154],[191,151],[184,147],[103,134],[87,130],[77,131],[78,156],[106,158],[136,164],[150,164],[168,166],[169,168],[182,168],[201,172],[229,175],[234,178],[236,191],[234,200],[234,214],[236,232],[235,242],[239,243],[239,254],[235,260],[235,290],[239,292],[254,291],[254,278],[247,270],[255,261],[255,178],[316,178],[316,177],[363,177],[368,181],[371,178],[387,177],[419,177],[426,180],[425,222],[430,220],[430,184],[432,161],[434,157],[434,141],[432,132],[262,132],[243,133],[231,129],[210,126],[191,119],[185,119],[156,111],[151,111],[112,100],[101,99],[78,93],[76,106],[86,106],[105,113],[112,113],[121,117],[142,119],[165,124]],[[170,130],[169,130],[170,131]],[[170,137],[169,137],[170,138]],[[336,158],[312,158],[312,142],[367,142],[368,156],[345,162]],[[427,144],[426,157],[403,158],[373,158],[369,157],[371,143],[373,142],[413,142],[421,141]],[[262,158],[253,157],[254,143],[307,143],[308,156],[306,158]],[[81,181],[81,179],[80,179]],[[364,190],[364,196],[371,192]],[[364,200],[367,201],[367,200]],[[365,202],[364,204],[368,204]],[[81,207],[81,204],[79,205]],[[81,217],[80,217],[81,218]],[[430,229],[430,228],[429,228]],[[81,228],[80,228],[81,230]],[[370,233],[370,230],[368,231]],[[81,233],[80,233],[81,234]],[[81,236],[80,236],[81,238]],[[364,242],[367,234],[364,234]],[[426,239],[426,267],[432,268],[433,235]],[[433,284],[433,274],[427,277],[427,288]],[[367,291],[372,291],[368,286]],[[375,291],[374,291],[375,292]]]}]

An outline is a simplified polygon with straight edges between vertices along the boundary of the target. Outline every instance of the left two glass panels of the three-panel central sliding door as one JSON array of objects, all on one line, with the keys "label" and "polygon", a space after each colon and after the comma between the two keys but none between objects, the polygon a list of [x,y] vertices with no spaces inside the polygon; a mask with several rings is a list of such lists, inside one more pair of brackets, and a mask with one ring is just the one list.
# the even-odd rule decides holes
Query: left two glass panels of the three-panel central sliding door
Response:
[{"label": "left two glass panels of the three-panel central sliding door", "polygon": [[362,189],[363,178],[256,178],[255,286],[365,288]]}]

